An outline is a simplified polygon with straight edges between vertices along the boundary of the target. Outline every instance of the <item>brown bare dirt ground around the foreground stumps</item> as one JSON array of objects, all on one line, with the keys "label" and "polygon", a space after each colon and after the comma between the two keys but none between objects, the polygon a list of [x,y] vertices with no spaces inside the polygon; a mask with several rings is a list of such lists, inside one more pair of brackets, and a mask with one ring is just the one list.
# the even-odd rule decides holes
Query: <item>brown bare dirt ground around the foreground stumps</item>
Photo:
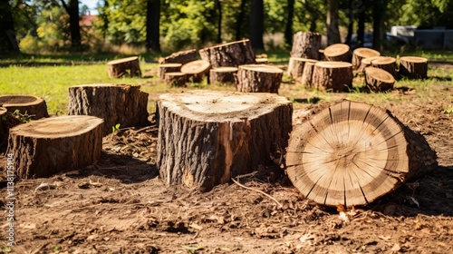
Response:
[{"label": "brown bare dirt ground around the foreground stumps", "polygon": [[[453,93],[451,85],[442,89]],[[101,161],[94,166],[16,182],[15,247],[6,246],[8,210],[2,199],[0,248],[14,253],[453,253],[453,113],[444,110],[452,103],[380,105],[425,136],[438,152],[439,169],[346,211],[346,218],[304,199],[277,166],[238,178],[248,189],[233,182],[204,193],[164,186],[154,161],[158,130],[151,125],[105,137]],[[0,163],[5,168],[5,157]],[[7,196],[5,184],[1,195]]]}]

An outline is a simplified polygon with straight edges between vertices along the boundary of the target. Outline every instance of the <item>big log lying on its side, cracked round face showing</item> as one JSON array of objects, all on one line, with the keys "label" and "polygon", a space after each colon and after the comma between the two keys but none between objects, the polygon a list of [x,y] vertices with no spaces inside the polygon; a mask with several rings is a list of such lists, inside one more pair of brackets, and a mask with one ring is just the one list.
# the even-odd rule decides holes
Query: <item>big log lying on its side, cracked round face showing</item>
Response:
[{"label": "big log lying on its side, cracked round face showing", "polygon": [[287,174],[308,199],[365,205],[437,168],[436,152],[389,111],[342,101],[294,127]]}]

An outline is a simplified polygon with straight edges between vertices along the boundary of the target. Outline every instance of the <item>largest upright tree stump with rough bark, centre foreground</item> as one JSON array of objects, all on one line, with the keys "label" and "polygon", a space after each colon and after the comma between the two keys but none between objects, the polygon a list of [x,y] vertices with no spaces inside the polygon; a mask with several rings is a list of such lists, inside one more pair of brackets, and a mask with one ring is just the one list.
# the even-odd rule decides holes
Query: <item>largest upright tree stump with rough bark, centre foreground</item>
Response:
[{"label": "largest upright tree stump with rough bark, centre foreground", "polygon": [[284,152],[292,103],[273,93],[188,91],[159,96],[157,166],[169,185],[211,190]]}]

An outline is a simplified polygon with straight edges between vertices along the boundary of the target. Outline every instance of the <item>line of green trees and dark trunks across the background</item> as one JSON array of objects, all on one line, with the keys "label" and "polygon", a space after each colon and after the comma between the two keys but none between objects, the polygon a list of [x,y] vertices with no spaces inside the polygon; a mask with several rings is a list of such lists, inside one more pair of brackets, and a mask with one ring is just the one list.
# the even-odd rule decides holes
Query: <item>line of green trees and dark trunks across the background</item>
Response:
[{"label": "line of green trees and dark trunks across the background", "polygon": [[325,34],[328,44],[342,37],[350,43],[357,34],[360,45],[368,30],[381,49],[391,25],[453,25],[453,0],[100,0],[98,12],[93,26],[83,27],[88,10],[78,0],[2,1],[0,53],[96,51],[106,44],[159,53],[242,38],[258,50],[288,49],[297,31]]}]

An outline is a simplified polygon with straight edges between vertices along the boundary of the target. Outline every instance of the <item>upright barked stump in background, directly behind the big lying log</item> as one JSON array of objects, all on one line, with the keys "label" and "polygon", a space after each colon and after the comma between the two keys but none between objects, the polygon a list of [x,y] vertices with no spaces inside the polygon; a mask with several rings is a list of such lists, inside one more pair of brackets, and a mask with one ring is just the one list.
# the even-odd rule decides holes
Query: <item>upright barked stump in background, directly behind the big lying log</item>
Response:
[{"label": "upright barked stump in background, directly behind the big lying log", "polygon": [[349,92],[352,88],[352,64],[325,62],[314,64],[312,83],[314,88],[327,92]]}]

